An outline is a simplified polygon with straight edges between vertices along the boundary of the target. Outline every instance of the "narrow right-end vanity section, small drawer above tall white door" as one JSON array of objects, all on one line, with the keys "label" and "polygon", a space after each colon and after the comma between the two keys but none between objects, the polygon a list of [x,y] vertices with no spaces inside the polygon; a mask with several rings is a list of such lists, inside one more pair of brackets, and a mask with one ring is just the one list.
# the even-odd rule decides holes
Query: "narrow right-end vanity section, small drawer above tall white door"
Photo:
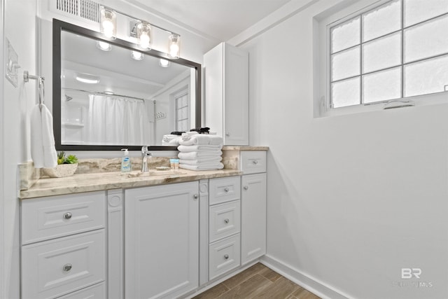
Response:
[{"label": "narrow right-end vanity section, small drawer above tall white door", "polygon": [[266,253],[266,152],[241,151],[241,265]]}]

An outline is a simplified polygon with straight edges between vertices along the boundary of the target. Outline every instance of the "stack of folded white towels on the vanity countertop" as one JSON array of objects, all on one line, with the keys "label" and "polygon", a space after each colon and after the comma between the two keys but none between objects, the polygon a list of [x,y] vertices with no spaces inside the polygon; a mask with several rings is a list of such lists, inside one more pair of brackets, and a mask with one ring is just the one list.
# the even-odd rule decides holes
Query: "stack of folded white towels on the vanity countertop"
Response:
[{"label": "stack of folded white towels on the vanity countertop", "polygon": [[179,167],[190,170],[223,169],[223,138],[216,135],[183,133],[179,139]]}]

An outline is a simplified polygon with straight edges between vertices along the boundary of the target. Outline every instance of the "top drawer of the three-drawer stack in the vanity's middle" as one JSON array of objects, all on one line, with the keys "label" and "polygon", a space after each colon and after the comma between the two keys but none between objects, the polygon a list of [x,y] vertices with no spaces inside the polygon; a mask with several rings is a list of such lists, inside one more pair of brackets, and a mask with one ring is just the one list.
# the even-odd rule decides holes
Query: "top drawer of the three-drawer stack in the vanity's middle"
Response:
[{"label": "top drawer of the three-drawer stack in the vanity's middle", "polygon": [[210,204],[220,204],[221,202],[239,200],[239,197],[241,196],[240,180],[240,176],[211,179],[209,181]]}]

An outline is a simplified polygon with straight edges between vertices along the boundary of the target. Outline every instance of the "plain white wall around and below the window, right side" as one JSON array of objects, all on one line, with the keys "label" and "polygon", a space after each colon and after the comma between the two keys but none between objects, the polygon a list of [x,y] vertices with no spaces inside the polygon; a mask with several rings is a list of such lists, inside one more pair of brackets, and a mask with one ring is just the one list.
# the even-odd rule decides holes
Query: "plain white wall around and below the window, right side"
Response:
[{"label": "plain white wall around and below the window, right side", "polygon": [[[312,2],[239,39],[250,144],[269,146],[267,254],[331,298],[448,298],[448,104],[314,118],[313,17],[340,1]],[[393,286],[403,267],[432,287]]]}]

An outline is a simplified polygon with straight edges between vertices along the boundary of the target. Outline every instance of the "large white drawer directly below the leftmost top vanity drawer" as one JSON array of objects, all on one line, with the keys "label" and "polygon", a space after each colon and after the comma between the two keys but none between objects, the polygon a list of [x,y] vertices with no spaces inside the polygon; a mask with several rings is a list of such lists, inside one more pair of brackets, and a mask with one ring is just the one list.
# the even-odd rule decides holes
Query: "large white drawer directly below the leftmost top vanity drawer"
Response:
[{"label": "large white drawer directly below the leftmost top vanity drawer", "polygon": [[55,298],[104,281],[104,229],[22,246],[22,298]]}]

